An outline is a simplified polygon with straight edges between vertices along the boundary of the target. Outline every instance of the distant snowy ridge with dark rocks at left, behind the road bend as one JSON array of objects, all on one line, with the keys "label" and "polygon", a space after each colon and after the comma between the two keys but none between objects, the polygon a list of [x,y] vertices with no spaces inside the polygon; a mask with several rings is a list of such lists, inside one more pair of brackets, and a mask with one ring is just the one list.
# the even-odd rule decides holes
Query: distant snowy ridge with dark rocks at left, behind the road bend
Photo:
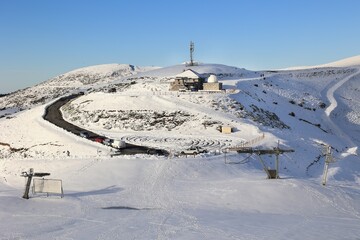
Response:
[{"label": "distant snowy ridge with dark rocks at left, behind the road bend", "polygon": [[103,64],[76,69],[34,87],[0,97],[0,109],[2,109],[0,116],[47,103],[65,94],[85,91],[94,85],[109,84],[114,80],[156,68],[129,64]]}]

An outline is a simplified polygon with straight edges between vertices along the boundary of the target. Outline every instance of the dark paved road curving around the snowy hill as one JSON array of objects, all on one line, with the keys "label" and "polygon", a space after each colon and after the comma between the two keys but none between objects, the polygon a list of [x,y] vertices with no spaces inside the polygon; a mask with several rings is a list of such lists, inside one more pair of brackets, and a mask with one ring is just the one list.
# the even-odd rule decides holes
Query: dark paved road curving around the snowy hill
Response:
[{"label": "dark paved road curving around the snowy hill", "polygon": [[[60,108],[66,104],[67,102],[82,96],[83,94],[73,94],[71,96],[62,97],[53,104],[49,105],[46,108],[44,119],[55,124],[56,126],[63,128],[75,135],[80,137],[80,132],[88,132],[89,133],[89,141],[94,140],[97,137],[104,137],[97,133],[88,131],[87,129],[81,128],[74,124],[71,124],[64,120]],[[100,143],[99,143],[100,144]],[[138,146],[134,144],[126,143],[126,147],[122,148],[119,154],[131,155],[131,154],[154,154],[154,155],[168,155],[168,152],[161,149],[148,148],[143,146]]]}]

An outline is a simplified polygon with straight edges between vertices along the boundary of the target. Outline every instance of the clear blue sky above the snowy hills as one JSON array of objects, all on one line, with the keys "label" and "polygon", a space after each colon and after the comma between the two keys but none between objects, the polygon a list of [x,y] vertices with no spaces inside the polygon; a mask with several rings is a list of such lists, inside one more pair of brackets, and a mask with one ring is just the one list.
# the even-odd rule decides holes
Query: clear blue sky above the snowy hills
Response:
[{"label": "clear blue sky above the snowy hills", "polygon": [[1,0],[0,93],[96,64],[250,70],[360,55],[359,0]]}]

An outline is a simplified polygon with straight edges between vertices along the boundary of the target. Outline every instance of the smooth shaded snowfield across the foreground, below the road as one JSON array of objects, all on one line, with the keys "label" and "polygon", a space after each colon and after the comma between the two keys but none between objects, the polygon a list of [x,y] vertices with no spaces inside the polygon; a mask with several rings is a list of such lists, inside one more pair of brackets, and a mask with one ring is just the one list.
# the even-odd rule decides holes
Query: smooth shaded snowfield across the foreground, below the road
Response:
[{"label": "smooth shaded snowfield across the foreground, below the road", "polygon": [[[356,239],[358,184],[265,179],[223,159],[73,159],[65,197],[1,184],[2,239]],[[232,156],[231,161],[238,161]],[[48,160],[12,165],[48,170]],[[63,163],[64,165],[64,163]],[[43,167],[43,168],[42,168]],[[50,168],[51,169],[51,168]],[[17,176],[19,178],[19,176]],[[9,179],[10,181],[10,179]],[[10,181],[11,182],[11,181]]]}]

